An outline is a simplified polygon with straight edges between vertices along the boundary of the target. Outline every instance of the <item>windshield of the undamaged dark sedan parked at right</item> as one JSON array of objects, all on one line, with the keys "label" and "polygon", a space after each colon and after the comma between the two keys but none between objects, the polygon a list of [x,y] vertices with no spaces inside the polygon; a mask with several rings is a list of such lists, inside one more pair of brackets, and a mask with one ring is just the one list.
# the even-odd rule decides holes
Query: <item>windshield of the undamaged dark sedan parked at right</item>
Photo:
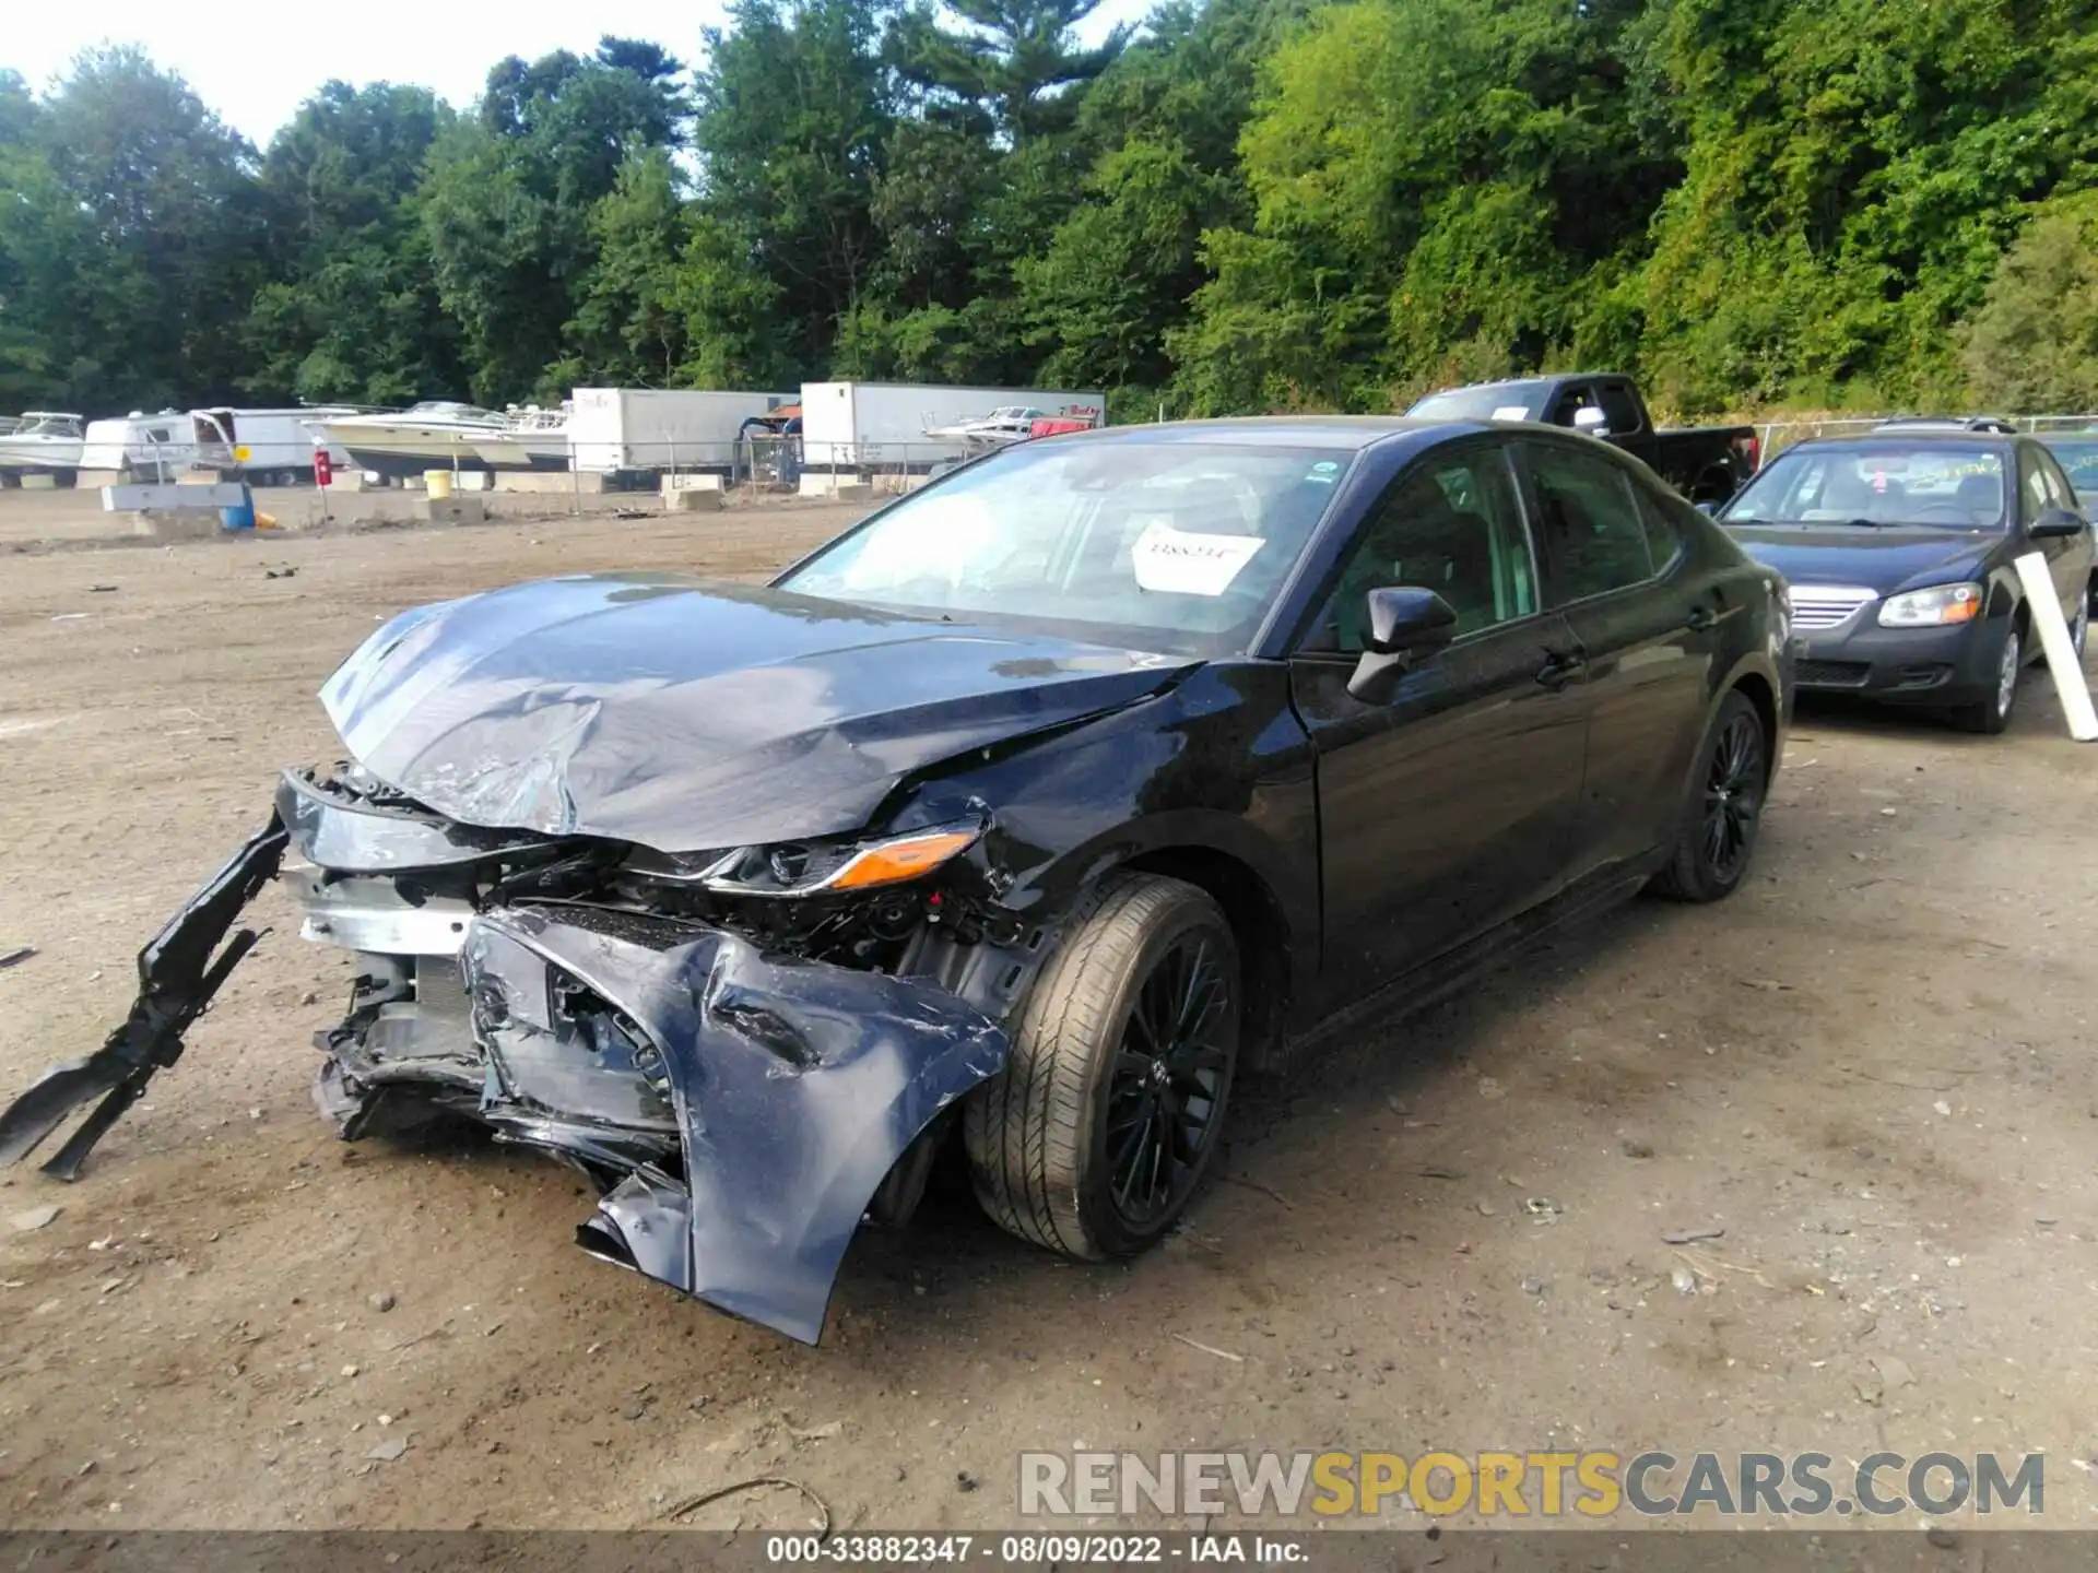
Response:
[{"label": "windshield of the undamaged dark sedan parked at right", "polygon": [[1859,443],[1779,453],[1720,514],[1729,524],[2004,522],[2004,457],[1960,443]]}]

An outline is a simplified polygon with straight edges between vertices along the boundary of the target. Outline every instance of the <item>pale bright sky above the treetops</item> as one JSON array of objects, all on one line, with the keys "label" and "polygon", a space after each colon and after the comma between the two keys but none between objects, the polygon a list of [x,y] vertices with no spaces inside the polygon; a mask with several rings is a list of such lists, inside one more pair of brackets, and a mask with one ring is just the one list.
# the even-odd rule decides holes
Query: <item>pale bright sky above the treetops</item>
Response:
[{"label": "pale bright sky above the treetops", "polygon": [[[1116,19],[1148,10],[1146,0],[1106,0],[1087,19],[1091,42]],[[688,65],[699,31],[724,15],[722,0],[348,0],[327,6],[178,6],[168,0],[19,0],[0,21],[0,69],[21,71],[42,92],[50,78],[94,44],[141,44],[153,63],[180,71],[220,120],[266,147],[292,111],[329,78],[418,82],[455,105],[506,55],[533,59],[556,48],[587,52],[600,34],[648,38]]]}]

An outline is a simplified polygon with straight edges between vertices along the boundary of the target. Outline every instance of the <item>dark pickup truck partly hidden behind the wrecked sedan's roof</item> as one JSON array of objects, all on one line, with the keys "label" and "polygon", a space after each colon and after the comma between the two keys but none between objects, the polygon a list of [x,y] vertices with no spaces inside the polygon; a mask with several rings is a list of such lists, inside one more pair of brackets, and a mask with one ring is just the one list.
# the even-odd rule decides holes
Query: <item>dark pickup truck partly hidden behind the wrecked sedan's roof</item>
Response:
[{"label": "dark pickup truck partly hidden behind the wrecked sedan's roof", "polygon": [[1756,474],[1754,426],[1680,426],[1655,430],[1639,384],[1613,371],[1569,371],[1511,382],[1443,388],[1408,415],[1422,419],[1546,422],[1601,436],[1693,503],[1722,503]]}]

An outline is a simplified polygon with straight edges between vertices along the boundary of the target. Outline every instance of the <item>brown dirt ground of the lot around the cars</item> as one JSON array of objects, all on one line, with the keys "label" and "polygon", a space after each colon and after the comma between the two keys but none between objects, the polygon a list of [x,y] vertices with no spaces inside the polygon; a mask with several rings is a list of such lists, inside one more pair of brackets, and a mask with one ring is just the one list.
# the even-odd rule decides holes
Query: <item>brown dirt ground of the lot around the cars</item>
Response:
[{"label": "brown dirt ground of the lot around the cars", "polygon": [[[36,954],[0,969],[0,1099],[122,1017],[275,770],[334,757],[313,694],[376,621],[564,570],[759,575],[850,518],[10,552],[57,518],[19,501],[0,952]],[[63,1208],[0,1227],[0,1518],[629,1527],[789,1474],[839,1527],[1011,1527],[1028,1447],[1668,1445],[2046,1449],[2048,1523],[2085,1527],[2092,759],[2043,673],[1999,740],[1806,713],[1735,900],[1634,904],[1255,1084],[1133,1265],[936,1191],[854,1246],[820,1349],[583,1256],[543,1160],[334,1141],[308,1038],[342,963],[273,889],[275,933],[82,1183],[0,1183],[4,1219]],[[1691,1225],[1725,1237],[1662,1244]]]}]

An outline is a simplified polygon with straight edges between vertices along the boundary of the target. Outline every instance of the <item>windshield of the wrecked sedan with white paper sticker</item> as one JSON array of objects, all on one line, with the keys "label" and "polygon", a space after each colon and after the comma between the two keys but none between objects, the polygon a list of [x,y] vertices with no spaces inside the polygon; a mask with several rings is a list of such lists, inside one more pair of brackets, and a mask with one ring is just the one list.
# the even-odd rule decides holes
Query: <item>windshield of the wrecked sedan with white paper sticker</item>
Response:
[{"label": "windshield of the wrecked sedan with white paper sticker", "polygon": [[1049,623],[1137,650],[1238,652],[1349,457],[1028,443],[894,503],[778,585],[950,619]]}]

